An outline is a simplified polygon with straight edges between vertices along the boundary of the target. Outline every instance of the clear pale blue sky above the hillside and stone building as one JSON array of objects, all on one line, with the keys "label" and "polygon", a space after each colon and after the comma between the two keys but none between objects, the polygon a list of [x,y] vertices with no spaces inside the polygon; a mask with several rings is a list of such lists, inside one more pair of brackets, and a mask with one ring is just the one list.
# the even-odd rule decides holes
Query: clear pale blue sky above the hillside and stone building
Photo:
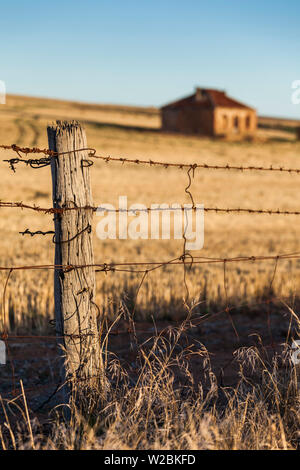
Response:
[{"label": "clear pale blue sky above the hillside and stone building", "polygon": [[162,105],[196,85],[300,118],[299,0],[2,2],[9,93]]}]

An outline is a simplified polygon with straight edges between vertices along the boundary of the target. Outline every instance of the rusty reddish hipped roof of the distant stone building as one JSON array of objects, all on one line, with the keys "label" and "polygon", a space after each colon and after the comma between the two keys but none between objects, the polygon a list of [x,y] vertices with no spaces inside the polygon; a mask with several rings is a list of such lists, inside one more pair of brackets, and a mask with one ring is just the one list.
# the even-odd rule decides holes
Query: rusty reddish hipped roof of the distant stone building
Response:
[{"label": "rusty reddish hipped roof of the distant stone building", "polygon": [[197,105],[209,108],[215,108],[217,106],[220,106],[222,108],[253,109],[250,106],[247,106],[233,98],[230,98],[226,95],[225,91],[214,90],[210,88],[196,88],[196,91],[193,95],[166,104],[165,106],[162,106],[161,109],[179,108],[188,105]]}]

